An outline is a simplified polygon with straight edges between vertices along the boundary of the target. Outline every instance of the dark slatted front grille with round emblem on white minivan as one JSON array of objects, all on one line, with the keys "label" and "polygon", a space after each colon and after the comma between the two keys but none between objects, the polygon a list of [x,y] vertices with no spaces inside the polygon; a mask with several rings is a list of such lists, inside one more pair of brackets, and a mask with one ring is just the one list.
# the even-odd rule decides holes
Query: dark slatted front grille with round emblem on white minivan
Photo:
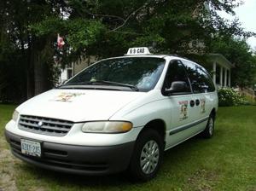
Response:
[{"label": "dark slatted front grille with round emblem on white minivan", "polygon": [[73,122],[71,121],[30,115],[20,115],[19,120],[20,130],[48,136],[65,136],[72,126]]}]

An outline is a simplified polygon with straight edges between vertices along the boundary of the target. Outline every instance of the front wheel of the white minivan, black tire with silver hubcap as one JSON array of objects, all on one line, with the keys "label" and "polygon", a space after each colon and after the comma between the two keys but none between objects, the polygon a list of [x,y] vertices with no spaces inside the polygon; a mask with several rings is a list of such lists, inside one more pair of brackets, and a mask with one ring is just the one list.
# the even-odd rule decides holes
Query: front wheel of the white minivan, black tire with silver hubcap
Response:
[{"label": "front wheel of the white minivan, black tire with silver hubcap", "polygon": [[164,151],[163,137],[156,130],[143,130],[137,138],[129,171],[135,181],[148,181],[156,176]]}]

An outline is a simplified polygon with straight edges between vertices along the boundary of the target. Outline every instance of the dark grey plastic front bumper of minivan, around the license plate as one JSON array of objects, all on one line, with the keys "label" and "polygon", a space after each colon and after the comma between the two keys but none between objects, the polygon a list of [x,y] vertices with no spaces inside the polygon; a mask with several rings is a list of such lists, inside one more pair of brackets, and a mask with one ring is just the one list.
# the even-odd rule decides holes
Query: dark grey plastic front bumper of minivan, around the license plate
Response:
[{"label": "dark grey plastic front bumper of minivan, around the license plate", "polygon": [[12,153],[27,163],[52,171],[84,175],[104,175],[125,171],[135,144],[135,142],[127,142],[114,146],[94,147],[44,141],[41,143],[42,156],[37,158],[21,153],[20,138],[26,137],[17,136],[8,130],[5,130],[5,137]]}]

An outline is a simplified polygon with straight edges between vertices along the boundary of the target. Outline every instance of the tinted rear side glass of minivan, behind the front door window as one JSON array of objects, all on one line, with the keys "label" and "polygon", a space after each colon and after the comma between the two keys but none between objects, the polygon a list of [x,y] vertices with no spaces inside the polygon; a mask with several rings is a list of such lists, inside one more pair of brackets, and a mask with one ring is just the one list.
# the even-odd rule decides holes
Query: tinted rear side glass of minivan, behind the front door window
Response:
[{"label": "tinted rear side glass of minivan, behind the front door window", "polygon": [[207,71],[198,65],[189,61],[183,61],[187,69],[189,80],[195,94],[212,92],[215,90],[212,78]]}]

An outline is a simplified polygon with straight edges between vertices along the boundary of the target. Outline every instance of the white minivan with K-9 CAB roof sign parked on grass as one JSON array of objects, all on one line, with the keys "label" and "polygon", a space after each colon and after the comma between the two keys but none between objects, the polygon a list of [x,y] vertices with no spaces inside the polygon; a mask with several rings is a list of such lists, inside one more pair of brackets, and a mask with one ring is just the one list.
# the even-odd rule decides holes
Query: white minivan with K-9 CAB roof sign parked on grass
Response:
[{"label": "white minivan with K-9 CAB roof sign parked on grass", "polygon": [[12,153],[32,165],[84,175],[127,170],[147,181],[164,151],[213,135],[217,110],[206,69],[131,48],[22,103],[5,136]]}]

